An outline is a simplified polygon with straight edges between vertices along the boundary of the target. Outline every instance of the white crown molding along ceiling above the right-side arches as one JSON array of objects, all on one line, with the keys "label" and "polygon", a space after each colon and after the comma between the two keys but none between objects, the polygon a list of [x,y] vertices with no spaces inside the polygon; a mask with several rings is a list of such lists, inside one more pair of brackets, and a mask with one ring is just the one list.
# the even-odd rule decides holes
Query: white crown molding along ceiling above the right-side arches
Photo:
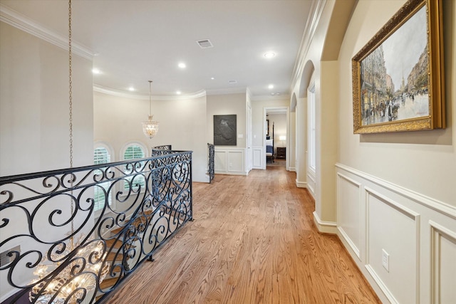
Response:
[{"label": "white crown molding along ceiling above the right-side arches", "polygon": [[326,0],[312,0],[311,4],[311,13],[309,14],[309,19],[306,22],[306,28],[301,39],[301,45],[299,46],[298,56],[296,57],[296,62],[293,68],[293,74],[290,83],[290,92],[293,92],[294,87],[296,86],[296,81],[301,77],[302,70],[304,69],[304,59],[309,53],[309,48],[311,46],[312,39],[318,23],[320,22],[321,14],[326,5]]}]

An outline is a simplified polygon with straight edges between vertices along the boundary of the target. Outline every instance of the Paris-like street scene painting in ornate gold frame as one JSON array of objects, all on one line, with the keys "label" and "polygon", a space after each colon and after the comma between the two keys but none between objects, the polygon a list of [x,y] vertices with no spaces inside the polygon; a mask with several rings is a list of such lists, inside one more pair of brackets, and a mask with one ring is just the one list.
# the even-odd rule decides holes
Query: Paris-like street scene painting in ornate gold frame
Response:
[{"label": "Paris-like street scene painting in ornate gold frame", "polygon": [[352,58],[353,133],[445,128],[442,1],[409,0]]}]

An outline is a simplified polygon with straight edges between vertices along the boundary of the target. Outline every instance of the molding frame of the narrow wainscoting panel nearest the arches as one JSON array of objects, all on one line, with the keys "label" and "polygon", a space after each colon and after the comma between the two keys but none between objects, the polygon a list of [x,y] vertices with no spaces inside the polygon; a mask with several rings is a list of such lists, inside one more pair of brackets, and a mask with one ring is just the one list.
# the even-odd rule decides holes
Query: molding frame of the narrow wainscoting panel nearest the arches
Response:
[{"label": "molding frame of the narrow wainscoting panel nearest the arches", "polygon": [[[362,203],[361,203],[361,197],[362,197],[362,192],[361,192],[361,183],[359,182],[356,182],[356,180],[354,179],[351,179],[350,177],[347,177],[346,175],[343,175],[341,173],[337,173],[337,210],[341,210],[342,209],[342,206],[341,206],[341,179],[343,180],[346,180],[347,182],[353,184],[354,186],[356,186],[358,188],[358,210],[359,210],[359,219],[360,219],[360,222],[358,223],[359,226],[358,226],[358,239],[361,240],[363,239],[362,236],[363,236],[363,226],[361,226],[361,219],[363,219],[363,214],[362,214],[362,209],[361,209],[361,206],[362,206]],[[341,223],[341,219],[340,219],[340,213],[337,212],[337,224]],[[356,246],[355,243],[353,243],[353,241],[351,240],[351,238],[348,236],[348,234],[346,234],[346,231],[343,230],[343,228],[341,226],[338,225],[338,231],[340,233],[340,236],[339,237],[342,237],[343,239],[345,239],[345,241],[347,242],[348,246],[350,246],[351,250],[353,250],[353,253],[356,254],[356,256],[358,257],[358,259],[361,261],[361,253],[360,253],[360,250],[358,248],[358,246]]]}]

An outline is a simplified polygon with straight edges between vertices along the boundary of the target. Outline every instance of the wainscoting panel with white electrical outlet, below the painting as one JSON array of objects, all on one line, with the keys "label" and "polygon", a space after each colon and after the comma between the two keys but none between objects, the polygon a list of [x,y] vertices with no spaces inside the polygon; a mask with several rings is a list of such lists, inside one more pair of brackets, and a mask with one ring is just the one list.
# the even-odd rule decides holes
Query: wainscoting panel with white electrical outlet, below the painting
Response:
[{"label": "wainscoting panel with white electrical outlet, below the painting", "polygon": [[375,281],[380,280],[377,283],[390,302],[418,303],[419,216],[378,192],[367,187],[365,191],[366,268]]}]

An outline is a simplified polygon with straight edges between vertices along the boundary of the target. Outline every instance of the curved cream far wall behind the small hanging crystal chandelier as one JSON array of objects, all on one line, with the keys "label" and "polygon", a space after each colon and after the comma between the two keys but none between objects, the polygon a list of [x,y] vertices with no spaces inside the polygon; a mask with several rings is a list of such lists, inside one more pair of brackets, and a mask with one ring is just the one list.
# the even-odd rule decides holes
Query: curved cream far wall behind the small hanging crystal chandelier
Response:
[{"label": "curved cream far wall behind the small hanging crystal chandelier", "polygon": [[152,98],[153,119],[160,122],[160,129],[151,140],[142,133],[141,122],[149,115],[149,99],[125,98],[104,93],[94,93],[95,142],[108,143],[115,152],[115,159],[122,160],[121,151],[130,142],[140,142],[147,147],[172,145],[172,150],[191,150],[192,178],[194,182],[209,182],[207,172],[206,98],[156,100]]}]

